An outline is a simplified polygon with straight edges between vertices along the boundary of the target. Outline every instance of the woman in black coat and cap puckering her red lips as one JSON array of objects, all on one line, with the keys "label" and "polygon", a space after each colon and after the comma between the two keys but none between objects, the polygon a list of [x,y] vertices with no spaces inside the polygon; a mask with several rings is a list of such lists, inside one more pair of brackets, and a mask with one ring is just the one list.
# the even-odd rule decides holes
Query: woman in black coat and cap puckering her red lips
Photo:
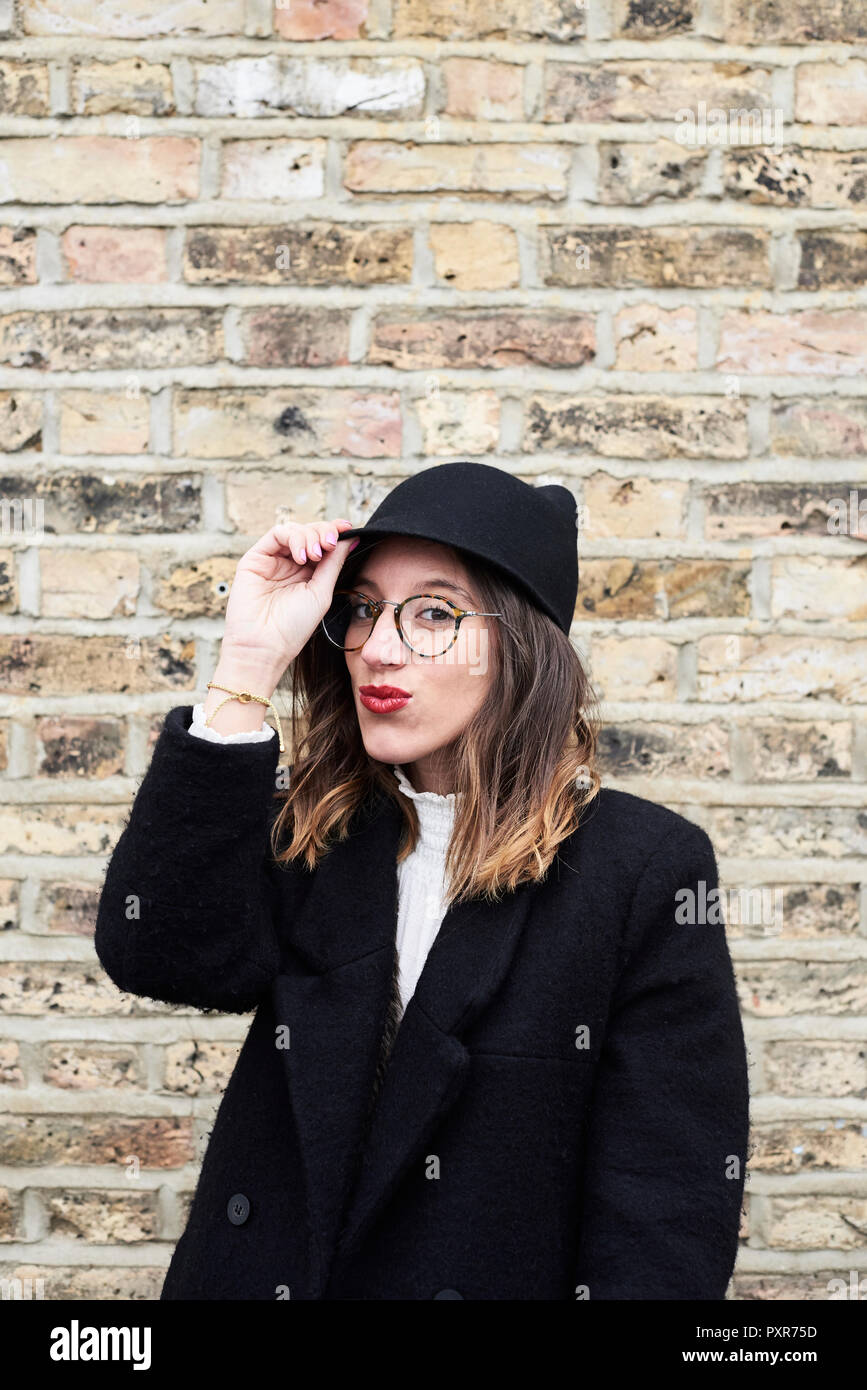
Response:
[{"label": "woman in black coat and cap puckering her red lips", "polygon": [[122,990],[256,1009],[163,1298],[724,1297],[714,852],[600,787],[577,587],[571,492],[477,463],[242,557],[96,924]]}]

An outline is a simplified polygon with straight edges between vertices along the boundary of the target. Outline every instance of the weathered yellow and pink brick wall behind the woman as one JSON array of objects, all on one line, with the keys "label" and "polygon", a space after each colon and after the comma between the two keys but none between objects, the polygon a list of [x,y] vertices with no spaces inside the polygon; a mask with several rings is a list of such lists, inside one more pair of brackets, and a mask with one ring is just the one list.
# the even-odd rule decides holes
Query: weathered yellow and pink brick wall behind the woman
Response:
[{"label": "weathered yellow and pink brick wall behind the woman", "polygon": [[249,1020],[121,995],[92,933],[239,555],[470,456],[574,488],[609,781],[717,848],[756,1145],[731,1291],[867,1277],[867,8],[0,29],[0,1276],[153,1298],[183,1229]]}]

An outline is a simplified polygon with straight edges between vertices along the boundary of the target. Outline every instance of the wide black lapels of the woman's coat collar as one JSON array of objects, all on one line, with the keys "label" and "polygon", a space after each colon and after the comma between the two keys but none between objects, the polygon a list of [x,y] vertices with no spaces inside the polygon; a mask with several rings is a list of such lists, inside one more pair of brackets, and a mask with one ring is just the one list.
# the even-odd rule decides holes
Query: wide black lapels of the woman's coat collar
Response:
[{"label": "wide black lapels of the woman's coat collar", "polygon": [[[274,984],[279,1049],[302,1148],[320,1293],[370,1230],[400,1177],[454,1105],[470,1054],[463,1036],[503,984],[535,884],[499,903],[453,903],[410,998],[361,1152],[389,1006],[402,813],[382,792],[358,812],[282,923],[295,956]],[[339,1237],[340,1218],[343,1226]]]}]

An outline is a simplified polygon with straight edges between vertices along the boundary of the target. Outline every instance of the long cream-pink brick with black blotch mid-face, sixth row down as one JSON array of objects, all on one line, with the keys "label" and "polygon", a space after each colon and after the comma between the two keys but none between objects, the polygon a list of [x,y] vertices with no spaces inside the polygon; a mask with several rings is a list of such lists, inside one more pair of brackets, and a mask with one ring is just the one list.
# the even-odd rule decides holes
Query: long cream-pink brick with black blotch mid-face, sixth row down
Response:
[{"label": "long cream-pink brick with black blotch mid-face, sixth row down", "polygon": [[176,391],[175,453],[200,459],[271,459],[275,455],[397,457],[397,392]]}]

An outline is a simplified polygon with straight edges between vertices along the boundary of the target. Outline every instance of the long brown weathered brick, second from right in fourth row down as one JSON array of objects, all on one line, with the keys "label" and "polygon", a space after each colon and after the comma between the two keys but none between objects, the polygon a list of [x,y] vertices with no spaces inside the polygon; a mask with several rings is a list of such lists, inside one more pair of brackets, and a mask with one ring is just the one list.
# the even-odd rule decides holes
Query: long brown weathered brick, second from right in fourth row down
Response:
[{"label": "long brown weathered brick, second from right in fourth row down", "polygon": [[734,227],[542,227],[545,285],[770,285],[770,234]]}]

